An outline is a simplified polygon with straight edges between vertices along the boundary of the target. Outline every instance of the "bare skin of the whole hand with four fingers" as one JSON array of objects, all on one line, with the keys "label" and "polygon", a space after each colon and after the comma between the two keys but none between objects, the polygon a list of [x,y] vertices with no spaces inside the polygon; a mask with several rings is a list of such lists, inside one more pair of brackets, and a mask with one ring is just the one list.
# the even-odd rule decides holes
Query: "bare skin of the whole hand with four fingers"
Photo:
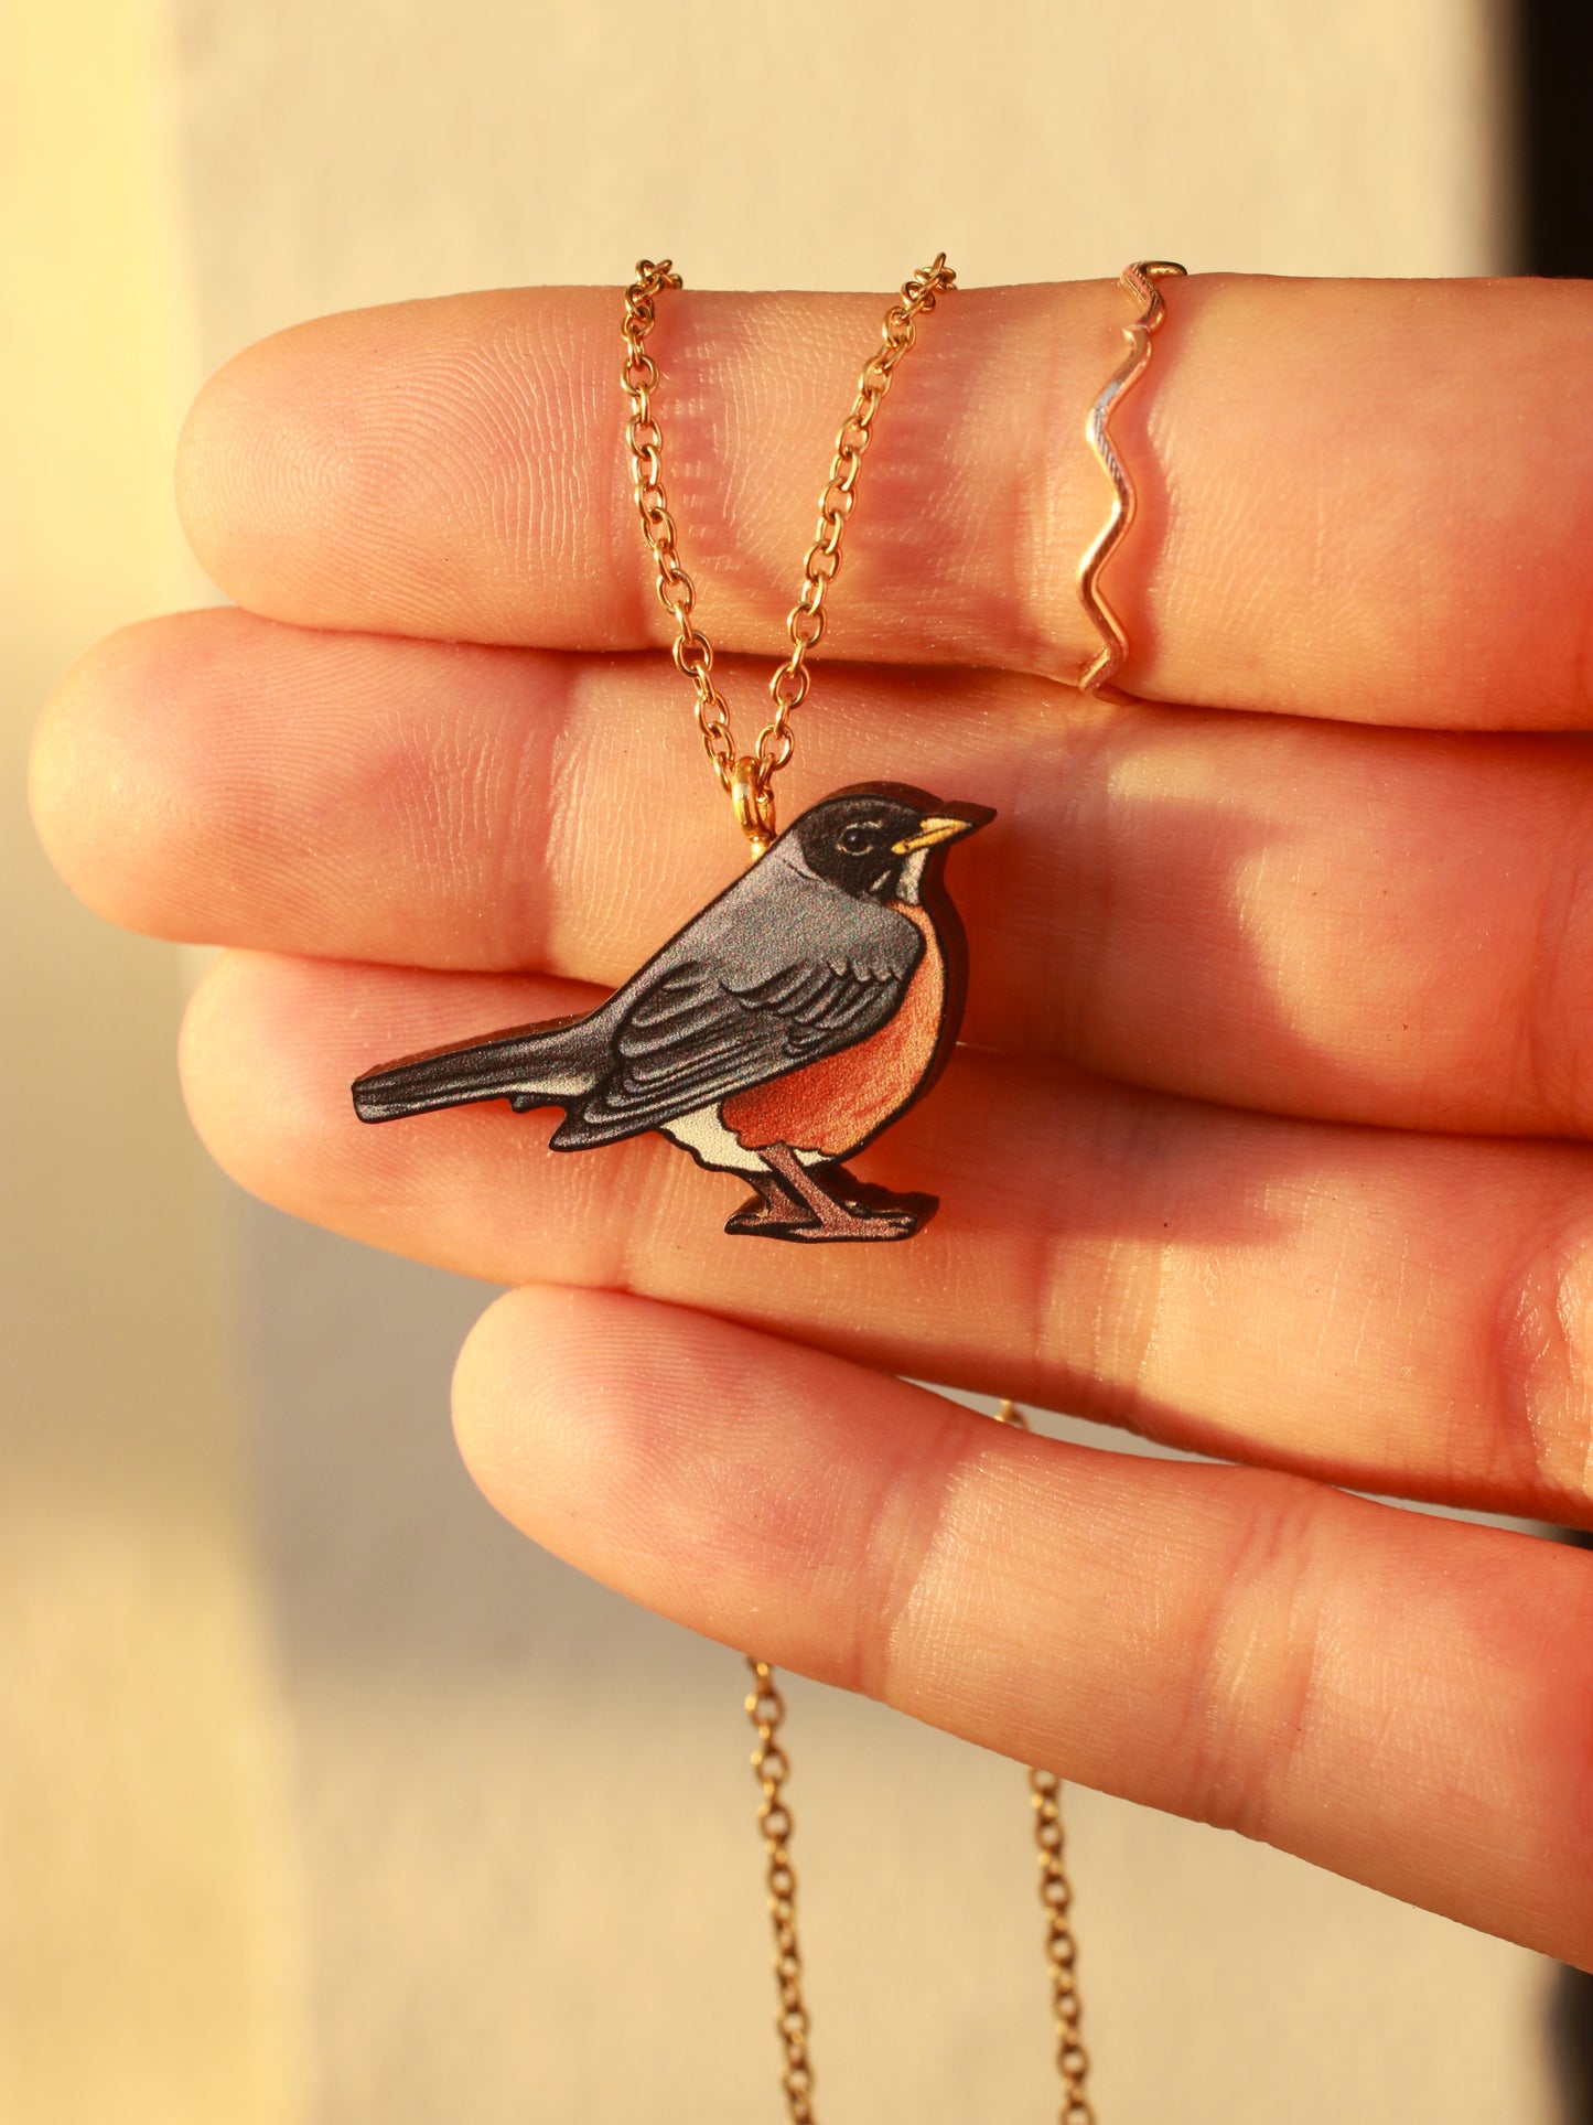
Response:
[{"label": "bare skin of the whole hand with four fingers", "polygon": [[[873,298],[661,306],[665,476],[743,737]],[[907,1247],[391,1054],[586,1007],[741,861],[658,644],[612,291],[336,317],[181,450],[242,610],[59,686],[40,833],[229,950],[183,1073],[257,1194],[520,1286],[455,1424],[535,1541],[731,1645],[1593,1968],[1593,1577],[1344,1496],[1593,1526],[1593,293],[1194,278],[1121,450],[1145,706],[1085,703],[1104,285],[971,291],[881,414],[786,814],[998,808],[969,1048],[858,1171]],[[750,657],[737,663],[737,652]],[[1022,1436],[915,1371],[1219,1456]],[[571,1415],[578,1411],[578,1415]]]}]

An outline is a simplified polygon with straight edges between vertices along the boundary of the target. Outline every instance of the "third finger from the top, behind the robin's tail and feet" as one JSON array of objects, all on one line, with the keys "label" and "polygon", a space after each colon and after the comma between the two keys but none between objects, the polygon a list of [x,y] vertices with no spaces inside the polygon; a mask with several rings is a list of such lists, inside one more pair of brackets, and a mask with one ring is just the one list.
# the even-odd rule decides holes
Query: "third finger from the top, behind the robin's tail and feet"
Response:
[{"label": "third finger from the top, behind the robin's tail and feet", "polygon": [[658,1137],[552,1154],[546,1114],[350,1114],[374,1065],[588,999],[227,958],[189,1014],[189,1107],[270,1203],[476,1277],[712,1305],[1357,1490],[1593,1517],[1593,1154],[1277,1122],[964,1052],[858,1164],[939,1194],[928,1230],[790,1247],[726,1237],[746,1184]]}]

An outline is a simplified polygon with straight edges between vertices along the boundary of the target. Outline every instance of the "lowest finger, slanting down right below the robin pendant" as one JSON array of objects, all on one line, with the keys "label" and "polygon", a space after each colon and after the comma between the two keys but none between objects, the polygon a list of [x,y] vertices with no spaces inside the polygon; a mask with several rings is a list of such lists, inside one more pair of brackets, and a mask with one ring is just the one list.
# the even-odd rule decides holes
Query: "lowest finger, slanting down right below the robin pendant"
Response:
[{"label": "lowest finger, slanting down right below the robin pendant", "polygon": [[1022,1436],[593,1292],[499,1300],[455,1426],[518,1528],[692,1630],[1593,1957],[1574,1551]]}]

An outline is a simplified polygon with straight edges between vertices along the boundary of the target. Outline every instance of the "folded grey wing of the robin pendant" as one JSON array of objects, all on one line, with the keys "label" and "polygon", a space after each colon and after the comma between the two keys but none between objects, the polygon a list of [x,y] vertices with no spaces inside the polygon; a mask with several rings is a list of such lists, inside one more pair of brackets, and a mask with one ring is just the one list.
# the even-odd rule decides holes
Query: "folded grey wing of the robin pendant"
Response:
[{"label": "folded grey wing of the robin pendant", "polygon": [[[641,1135],[856,1046],[888,1024],[924,956],[918,929],[886,907],[803,899],[780,907],[777,931],[746,905],[724,914],[739,916],[729,935],[695,922],[678,944],[699,952],[663,954],[629,986],[614,1067],[569,1109],[554,1150]],[[820,926],[837,933],[824,950]],[[701,952],[712,944],[720,950]]]}]

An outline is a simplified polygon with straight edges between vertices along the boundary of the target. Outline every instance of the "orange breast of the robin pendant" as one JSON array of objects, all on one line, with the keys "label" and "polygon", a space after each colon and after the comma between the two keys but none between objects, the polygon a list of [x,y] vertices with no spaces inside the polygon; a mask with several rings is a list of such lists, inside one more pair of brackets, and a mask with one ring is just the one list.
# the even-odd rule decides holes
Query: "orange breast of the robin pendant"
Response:
[{"label": "orange breast of the robin pendant", "polygon": [[924,956],[894,1016],[856,1048],[843,1048],[750,1092],[733,1092],[720,1107],[720,1118],[746,1150],[788,1143],[794,1152],[845,1158],[918,1090],[941,1037],[945,967],[935,924],[924,910],[896,903],[896,914],[922,931]]}]

